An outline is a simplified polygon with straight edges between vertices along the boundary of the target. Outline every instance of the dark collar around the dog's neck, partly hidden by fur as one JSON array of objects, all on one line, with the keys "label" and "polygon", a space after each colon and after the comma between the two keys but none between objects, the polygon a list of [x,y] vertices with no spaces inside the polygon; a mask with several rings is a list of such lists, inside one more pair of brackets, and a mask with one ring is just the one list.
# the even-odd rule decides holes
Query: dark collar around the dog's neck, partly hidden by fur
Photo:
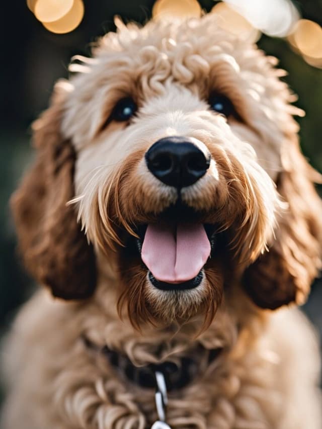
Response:
[{"label": "dark collar around the dog's neck, partly hidden by fur", "polygon": [[[167,361],[137,367],[124,354],[110,350],[107,346],[97,346],[88,338],[83,339],[88,350],[103,356],[115,371],[124,375],[131,383],[145,389],[155,388],[155,372],[157,371],[164,375],[168,392],[188,386],[198,375],[201,375],[198,359],[185,356],[180,357],[177,363]],[[207,365],[210,365],[220,355],[221,350],[218,348],[206,351]]]}]

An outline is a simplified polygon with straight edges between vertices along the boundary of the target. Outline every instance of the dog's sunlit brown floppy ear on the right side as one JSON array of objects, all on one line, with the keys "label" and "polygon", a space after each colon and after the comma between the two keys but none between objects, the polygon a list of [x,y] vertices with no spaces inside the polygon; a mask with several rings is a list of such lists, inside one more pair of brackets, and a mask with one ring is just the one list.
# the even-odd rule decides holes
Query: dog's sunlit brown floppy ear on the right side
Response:
[{"label": "dog's sunlit brown floppy ear on the right side", "polygon": [[287,203],[269,251],[245,273],[244,287],[262,308],[302,304],[321,268],[322,204],[314,182],[320,175],[300,152],[297,136],[287,139],[282,153],[283,171],[277,190]]}]

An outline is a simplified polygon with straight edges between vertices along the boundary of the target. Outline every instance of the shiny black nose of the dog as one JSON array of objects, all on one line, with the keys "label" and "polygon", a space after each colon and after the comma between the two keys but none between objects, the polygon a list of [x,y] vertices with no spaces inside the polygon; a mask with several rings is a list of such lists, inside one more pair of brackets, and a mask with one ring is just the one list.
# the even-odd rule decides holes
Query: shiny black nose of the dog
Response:
[{"label": "shiny black nose of the dog", "polygon": [[183,188],[197,182],[210,165],[210,153],[201,151],[188,137],[165,137],[145,154],[148,169],[161,182]]}]

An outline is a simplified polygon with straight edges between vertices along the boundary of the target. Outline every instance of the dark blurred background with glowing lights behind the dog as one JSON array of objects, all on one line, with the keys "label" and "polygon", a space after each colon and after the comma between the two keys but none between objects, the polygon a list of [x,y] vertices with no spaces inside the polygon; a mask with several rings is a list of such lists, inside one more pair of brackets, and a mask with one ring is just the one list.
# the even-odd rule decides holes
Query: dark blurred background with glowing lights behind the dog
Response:
[{"label": "dark blurred background with glowing lights behind the dog", "polygon": [[[302,150],[322,171],[322,0],[5,0],[0,37],[0,334],[34,287],[16,256],[8,201],[32,160],[30,123],[47,107],[54,81],[68,76],[71,56],[89,56],[91,42],[115,29],[115,15],[144,23],[152,14],[156,19],[194,16],[201,9],[221,15],[222,25],[258,40],[280,59],[289,72],[285,80],[299,96],[296,104],[306,111],[298,119]],[[321,333],[320,283],[315,282],[303,309]]]}]

